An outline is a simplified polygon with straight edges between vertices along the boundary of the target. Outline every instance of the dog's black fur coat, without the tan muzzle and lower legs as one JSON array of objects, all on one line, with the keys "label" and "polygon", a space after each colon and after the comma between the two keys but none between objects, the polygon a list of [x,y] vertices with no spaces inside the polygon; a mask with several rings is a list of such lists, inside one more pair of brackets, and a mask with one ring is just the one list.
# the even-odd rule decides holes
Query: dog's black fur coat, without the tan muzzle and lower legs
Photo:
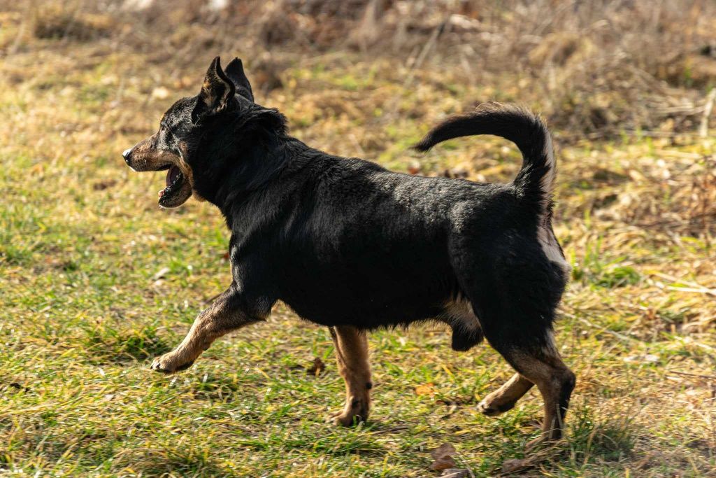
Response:
[{"label": "dog's black fur coat, without the tan muzzle and lower legs", "polygon": [[[508,138],[524,157],[513,183],[426,178],[291,137],[283,115],[253,102],[240,62],[215,76],[219,92],[228,78],[235,94],[176,102],[158,147],[184,148],[195,193],[226,218],[236,303],[247,315],[265,316],[281,300],[329,326],[369,330],[438,318],[453,326],[458,350],[483,333],[503,355],[548,345],[566,276],[537,239],[538,226],[550,226],[541,181],[553,165],[548,132],[535,115],[486,105],[447,120],[417,145],[427,150],[474,134]],[[446,312],[458,297],[472,306],[478,328]]]}]

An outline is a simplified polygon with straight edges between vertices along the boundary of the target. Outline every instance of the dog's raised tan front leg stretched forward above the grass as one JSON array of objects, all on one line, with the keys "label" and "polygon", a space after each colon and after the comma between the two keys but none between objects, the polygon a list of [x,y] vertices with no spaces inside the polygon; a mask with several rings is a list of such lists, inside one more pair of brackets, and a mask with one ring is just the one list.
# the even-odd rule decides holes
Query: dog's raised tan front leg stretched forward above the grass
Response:
[{"label": "dog's raised tan front leg stretched forward above the grass", "polygon": [[[232,284],[194,320],[189,333],[177,348],[155,358],[152,370],[174,373],[189,368],[214,340],[246,325],[266,320],[265,313],[254,312],[248,307],[246,297]],[[270,310],[270,307],[269,307]]]}]

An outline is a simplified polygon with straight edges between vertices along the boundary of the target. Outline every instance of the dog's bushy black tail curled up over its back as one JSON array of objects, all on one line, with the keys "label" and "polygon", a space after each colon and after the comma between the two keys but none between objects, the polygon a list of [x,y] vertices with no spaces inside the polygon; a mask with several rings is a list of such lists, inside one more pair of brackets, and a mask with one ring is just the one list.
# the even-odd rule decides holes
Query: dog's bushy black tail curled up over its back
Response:
[{"label": "dog's bushy black tail curled up over its back", "polygon": [[515,143],[522,152],[522,168],[513,181],[518,194],[542,209],[549,207],[556,165],[552,138],[537,115],[515,105],[483,103],[432,128],[415,149],[427,151],[441,141],[470,135],[501,136]]}]

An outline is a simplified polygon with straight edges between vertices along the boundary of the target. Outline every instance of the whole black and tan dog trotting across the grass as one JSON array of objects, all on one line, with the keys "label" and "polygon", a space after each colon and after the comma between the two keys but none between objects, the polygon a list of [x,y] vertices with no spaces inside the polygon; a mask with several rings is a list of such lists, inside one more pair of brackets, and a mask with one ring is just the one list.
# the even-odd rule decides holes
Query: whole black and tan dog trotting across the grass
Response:
[{"label": "whole black and tan dog trotting across the grass", "polygon": [[553,338],[570,267],[551,225],[550,133],[528,110],[488,102],[437,125],[415,148],[483,134],[521,150],[511,183],[411,176],[332,156],[254,102],[240,59],[226,70],[213,59],[199,94],[175,102],[157,133],[122,153],[134,171],[167,171],[160,206],[195,196],[216,205],[231,230],[231,285],[151,368],[190,367],[281,300],[329,327],[346,384],[334,421],[349,426],[369,414],[367,331],[437,320],[452,329],[454,350],[487,338],[516,370],[479,411],[508,411],[536,385],[545,414],[538,440],[558,439],[576,377]]}]

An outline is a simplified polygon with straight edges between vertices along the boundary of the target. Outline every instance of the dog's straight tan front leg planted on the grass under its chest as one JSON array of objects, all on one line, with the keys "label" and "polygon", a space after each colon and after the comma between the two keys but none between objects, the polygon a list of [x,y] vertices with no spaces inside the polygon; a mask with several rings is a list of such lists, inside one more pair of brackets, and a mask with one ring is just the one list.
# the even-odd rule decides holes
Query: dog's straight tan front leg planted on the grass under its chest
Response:
[{"label": "dog's straight tan front leg planted on the grass under its chest", "polygon": [[357,328],[338,326],[329,328],[336,348],[338,371],[346,382],[346,404],[332,415],[337,425],[351,426],[368,419],[370,411],[370,363],[368,340]]}]

